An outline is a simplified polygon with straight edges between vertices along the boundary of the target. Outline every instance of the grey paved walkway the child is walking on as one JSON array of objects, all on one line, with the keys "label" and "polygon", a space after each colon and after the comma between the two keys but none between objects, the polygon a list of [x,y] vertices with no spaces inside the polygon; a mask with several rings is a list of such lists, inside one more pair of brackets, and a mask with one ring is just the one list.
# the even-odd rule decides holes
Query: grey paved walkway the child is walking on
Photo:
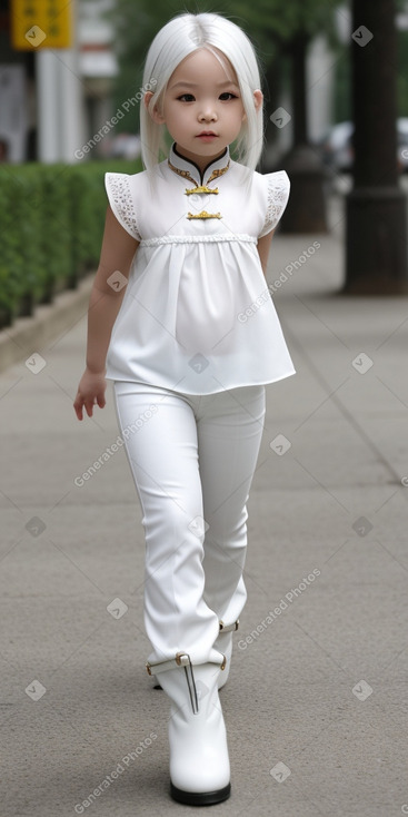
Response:
[{"label": "grey paved walkway the child is walking on", "polygon": [[[342,233],[335,197],[328,235],[272,242],[297,374],[267,386],[219,817],[408,814],[408,302],[339,295]],[[145,670],[123,450],[74,482],[118,436],[111,384],[92,420],[72,407],[90,282],[52,337],[10,331],[20,351],[0,374],[0,811],[188,817],[168,795],[168,702]]]}]

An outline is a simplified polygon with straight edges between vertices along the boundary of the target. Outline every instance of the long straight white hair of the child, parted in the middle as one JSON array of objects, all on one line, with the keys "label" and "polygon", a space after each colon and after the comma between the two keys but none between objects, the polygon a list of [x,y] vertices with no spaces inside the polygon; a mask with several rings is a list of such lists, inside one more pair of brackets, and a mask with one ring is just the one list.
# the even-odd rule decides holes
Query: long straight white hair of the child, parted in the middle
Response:
[{"label": "long straight white hair of the child, parted in the middle", "polygon": [[[160,29],[145,63],[143,90],[153,91],[149,110],[156,105],[161,108],[168,81],[181,60],[199,48],[209,48],[212,51],[211,47],[227,57],[237,75],[247,115],[237,139],[238,161],[255,170],[263,147],[262,109],[257,110],[253,100],[253,91],[260,88],[259,67],[251,41],[231,20],[217,13],[182,13]],[[152,120],[141,104],[141,158],[151,175],[159,161],[160,150],[167,155],[165,128],[165,125]]]}]

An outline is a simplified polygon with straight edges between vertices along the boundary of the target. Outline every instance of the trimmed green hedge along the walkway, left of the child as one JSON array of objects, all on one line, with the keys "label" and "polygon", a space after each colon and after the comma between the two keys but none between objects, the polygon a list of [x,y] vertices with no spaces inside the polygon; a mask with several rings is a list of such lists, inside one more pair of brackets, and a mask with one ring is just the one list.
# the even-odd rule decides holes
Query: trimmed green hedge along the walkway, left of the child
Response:
[{"label": "trimmed green hedge along the walkway, left of the child", "polygon": [[74,288],[99,260],[107,170],[141,161],[0,165],[0,328],[56,293]]}]

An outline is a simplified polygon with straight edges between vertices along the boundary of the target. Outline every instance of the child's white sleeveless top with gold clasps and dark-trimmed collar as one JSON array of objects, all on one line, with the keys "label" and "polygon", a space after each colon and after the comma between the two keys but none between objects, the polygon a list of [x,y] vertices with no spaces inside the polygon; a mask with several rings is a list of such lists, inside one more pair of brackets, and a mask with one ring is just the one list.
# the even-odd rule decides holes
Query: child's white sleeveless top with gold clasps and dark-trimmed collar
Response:
[{"label": "child's white sleeveless top with gold clasps and dark-trimmed collar", "polygon": [[257,240],[288,201],[285,170],[248,170],[229,149],[207,166],[172,145],[148,173],[107,173],[118,222],[140,242],[107,354],[106,376],[212,394],[295,374]]}]

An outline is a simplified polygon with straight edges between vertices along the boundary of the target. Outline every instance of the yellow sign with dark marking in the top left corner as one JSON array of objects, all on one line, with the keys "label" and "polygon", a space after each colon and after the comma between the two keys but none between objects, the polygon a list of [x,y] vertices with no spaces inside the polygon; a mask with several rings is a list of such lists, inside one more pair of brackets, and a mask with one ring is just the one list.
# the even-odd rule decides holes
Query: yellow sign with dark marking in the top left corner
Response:
[{"label": "yellow sign with dark marking in the top left corner", "polygon": [[70,48],[73,0],[11,0],[11,43],[18,51]]}]

